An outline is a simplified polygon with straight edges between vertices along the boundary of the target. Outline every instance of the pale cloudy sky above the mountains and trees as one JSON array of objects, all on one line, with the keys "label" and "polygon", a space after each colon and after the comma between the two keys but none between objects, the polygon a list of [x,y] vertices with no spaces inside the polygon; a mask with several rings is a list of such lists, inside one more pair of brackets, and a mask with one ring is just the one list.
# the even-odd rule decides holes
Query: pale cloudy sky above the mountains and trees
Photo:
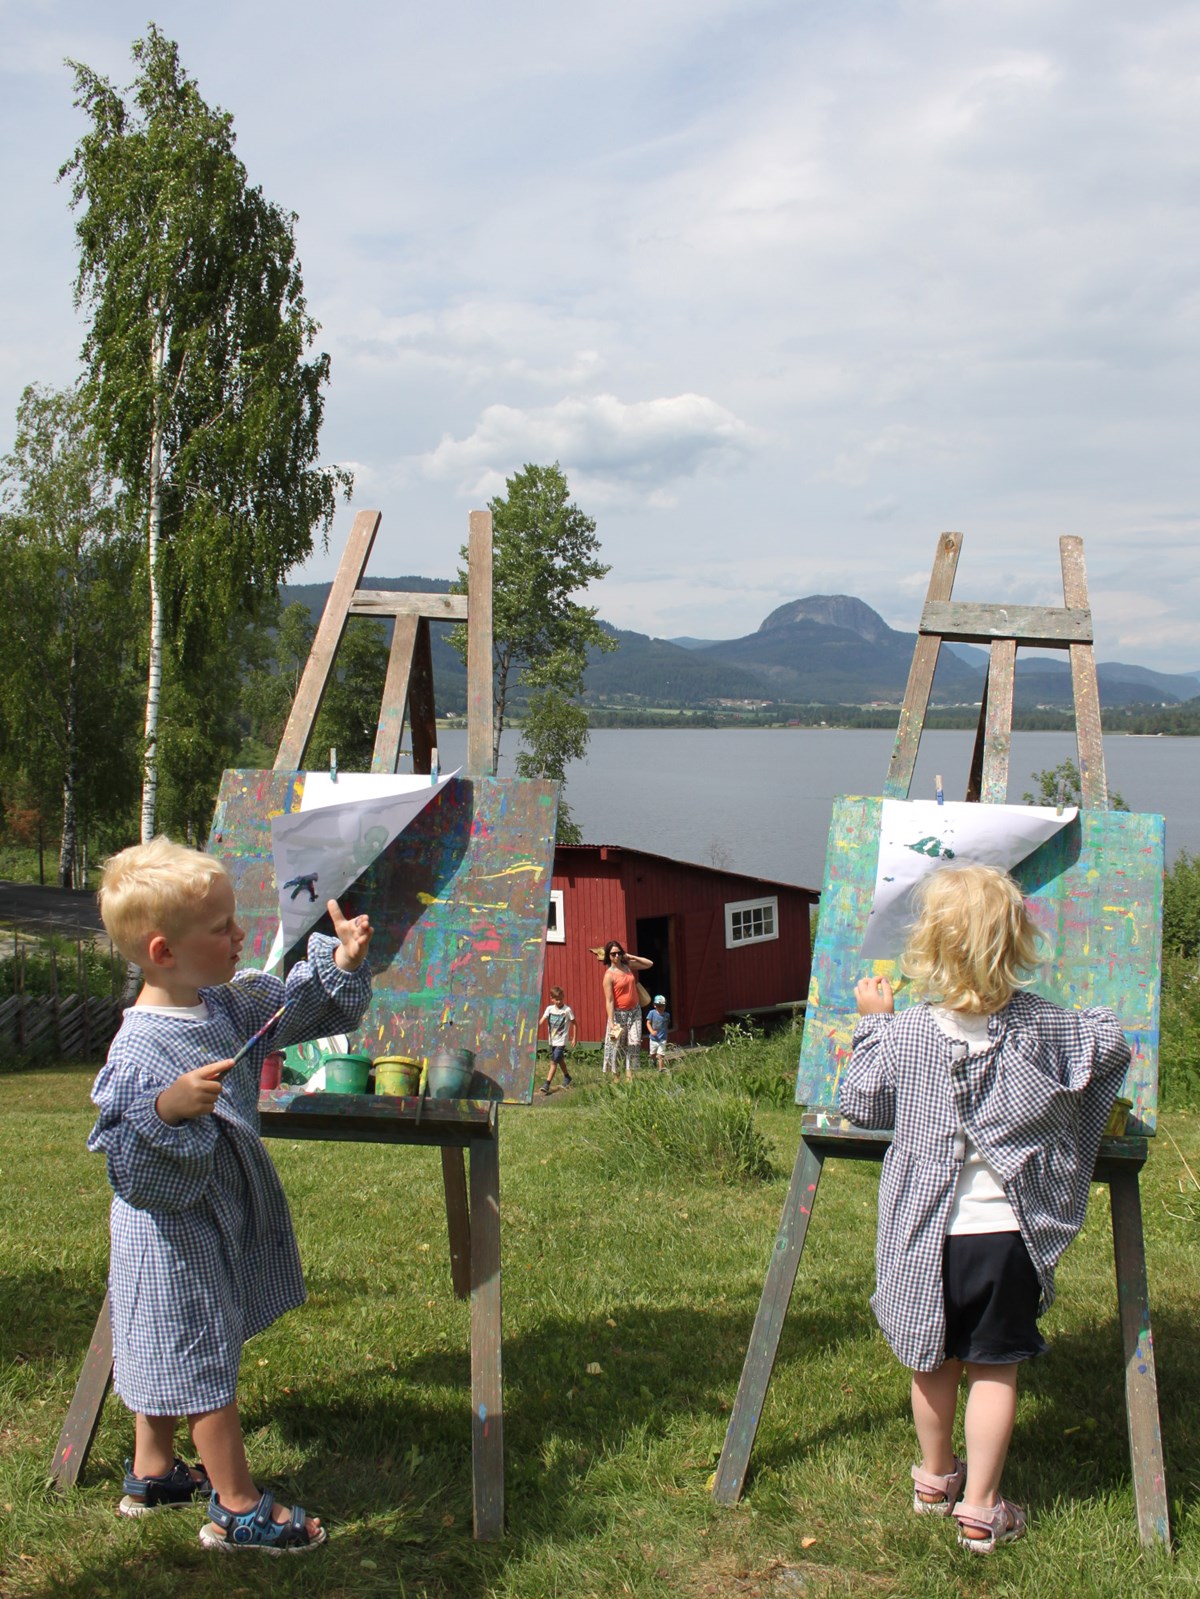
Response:
[{"label": "pale cloudy sky above the mountains and trees", "polygon": [[[0,0],[0,449],[78,373],[85,131],[149,6]],[[298,214],[322,459],[370,572],[450,577],[558,461],[605,620],[736,638],[787,600],[1061,604],[1200,670],[1200,8],[1174,0],[160,0]]]}]

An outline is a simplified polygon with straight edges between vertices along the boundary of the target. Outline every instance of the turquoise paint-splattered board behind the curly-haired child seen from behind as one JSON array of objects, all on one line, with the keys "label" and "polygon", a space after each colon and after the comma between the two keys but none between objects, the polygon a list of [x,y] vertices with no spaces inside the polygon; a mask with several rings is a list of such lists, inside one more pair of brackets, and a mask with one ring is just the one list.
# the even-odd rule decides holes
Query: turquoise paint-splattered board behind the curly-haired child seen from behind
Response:
[{"label": "turquoise paint-splattered board behind the curly-haired child seen from behind", "polygon": [[[880,806],[858,796],[834,801],[795,1086],[797,1103],[808,1110],[837,1105],[856,980],[870,971],[899,982],[891,961],[858,953],[875,889]],[[1133,1051],[1122,1089],[1133,1100],[1131,1135],[1152,1134],[1158,1115],[1163,836],[1160,815],[1082,811],[1013,871],[1054,953],[1034,991],[1075,1009],[1112,1006],[1120,1017]],[[896,1007],[907,1003],[901,988]]]}]

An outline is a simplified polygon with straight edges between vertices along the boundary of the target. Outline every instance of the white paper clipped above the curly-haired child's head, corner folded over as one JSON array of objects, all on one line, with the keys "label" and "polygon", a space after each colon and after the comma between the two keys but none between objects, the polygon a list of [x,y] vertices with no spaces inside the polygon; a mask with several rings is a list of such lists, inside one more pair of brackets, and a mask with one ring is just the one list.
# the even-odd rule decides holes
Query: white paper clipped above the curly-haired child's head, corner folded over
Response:
[{"label": "white paper clipped above the curly-haired child's head, corner folded over", "polygon": [[875,900],[859,953],[869,959],[894,959],[901,953],[914,921],[912,891],[930,871],[949,862],[1011,871],[1019,860],[1074,822],[1077,809],[885,800]]}]

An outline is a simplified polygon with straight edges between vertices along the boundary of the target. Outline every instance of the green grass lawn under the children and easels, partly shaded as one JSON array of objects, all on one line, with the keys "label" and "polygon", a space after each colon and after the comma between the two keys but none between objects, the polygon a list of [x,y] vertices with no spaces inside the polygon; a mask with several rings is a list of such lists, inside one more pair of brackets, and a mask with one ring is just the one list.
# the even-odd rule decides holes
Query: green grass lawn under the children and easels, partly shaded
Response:
[{"label": "green grass lawn under the children and easels, partly shaded", "polygon": [[[680,1068],[683,1071],[690,1068]],[[760,1110],[776,1175],[720,1183],[622,1159],[613,1097],[501,1115],[507,1537],[470,1537],[469,1313],[450,1290],[437,1151],[285,1143],[309,1303],[246,1348],[266,1485],[322,1514],[312,1556],[221,1559],[200,1513],[115,1513],[133,1428],[110,1399],[67,1498],[46,1469],[104,1289],[109,1188],[83,1140],[93,1068],[0,1076],[0,1594],[1128,1596],[1200,1593],[1200,1196],[1160,1137],[1142,1204],[1174,1554],[1141,1549],[1107,1190],[1059,1271],[1051,1353],[1026,1369],[1006,1490],[1024,1543],[960,1553],[910,1513],[907,1375],[867,1295],[877,1169],[832,1161],[736,1509],[725,1436],[797,1138]],[[672,1092],[674,1078],[643,1094]],[[1200,1170],[1200,1118],[1165,1127]]]}]

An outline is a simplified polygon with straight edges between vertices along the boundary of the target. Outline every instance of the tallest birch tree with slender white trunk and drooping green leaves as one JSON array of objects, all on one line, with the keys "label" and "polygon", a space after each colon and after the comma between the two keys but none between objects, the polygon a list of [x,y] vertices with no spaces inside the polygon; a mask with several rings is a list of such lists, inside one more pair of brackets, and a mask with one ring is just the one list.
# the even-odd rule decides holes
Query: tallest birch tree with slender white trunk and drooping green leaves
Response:
[{"label": "tallest birch tree with slender white trunk and drooping green leaves", "polygon": [[90,130],[62,166],[77,211],[75,299],[106,462],[146,528],[149,643],[142,838],[155,828],[165,638],[195,662],[254,616],[328,536],[350,478],[318,467],[326,355],[296,261],[294,216],[248,182],[210,107],[150,26],[123,98],[82,62]]}]

